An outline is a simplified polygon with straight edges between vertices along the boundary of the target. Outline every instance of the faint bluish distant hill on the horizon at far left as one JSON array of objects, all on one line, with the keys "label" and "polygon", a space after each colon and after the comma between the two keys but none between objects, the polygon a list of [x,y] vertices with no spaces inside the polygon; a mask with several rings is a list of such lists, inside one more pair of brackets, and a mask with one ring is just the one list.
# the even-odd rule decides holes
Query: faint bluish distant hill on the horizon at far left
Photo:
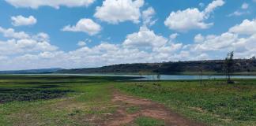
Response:
[{"label": "faint bluish distant hill on the horizon at far left", "polygon": [[0,74],[46,74],[57,72],[60,68],[54,69],[27,69],[27,70],[12,70],[12,71],[0,71]]}]

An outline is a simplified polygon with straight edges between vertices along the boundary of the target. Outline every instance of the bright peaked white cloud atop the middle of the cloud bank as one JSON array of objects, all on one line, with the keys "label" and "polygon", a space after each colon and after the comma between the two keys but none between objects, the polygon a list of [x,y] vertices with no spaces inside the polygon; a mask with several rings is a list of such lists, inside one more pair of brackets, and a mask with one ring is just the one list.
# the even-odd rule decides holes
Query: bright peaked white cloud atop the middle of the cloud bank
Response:
[{"label": "bright peaked white cloud atop the middle of the cloud bank", "polygon": [[159,47],[164,46],[168,42],[168,39],[163,36],[156,35],[154,31],[149,30],[149,28],[141,27],[140,31],[127,35],[124,41],[124,46],[133,47]]}]

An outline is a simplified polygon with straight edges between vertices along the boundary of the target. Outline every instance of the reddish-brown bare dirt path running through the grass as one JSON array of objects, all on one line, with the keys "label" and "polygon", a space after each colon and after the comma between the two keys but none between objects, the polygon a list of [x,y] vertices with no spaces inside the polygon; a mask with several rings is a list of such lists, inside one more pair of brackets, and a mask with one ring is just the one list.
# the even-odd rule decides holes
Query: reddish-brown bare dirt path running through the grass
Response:
[{"label": "reddish-brown bare dirt path running through the grass", "polygon": [[[164,120],[167,126],[205,126],[205,124],[188,120],[177,113],[171,113],[169,109],[156,102],[123,95],[119,91],[114,91],[113,94],[112,102],[118,106],[118,110],[113,115],[107,117],[106,122],[104,122],[106,126],[130,124],[137,117],[152,117],[158,120]],[[139,109],[134,113],[127,113],[127,108],[131,106]]]}]

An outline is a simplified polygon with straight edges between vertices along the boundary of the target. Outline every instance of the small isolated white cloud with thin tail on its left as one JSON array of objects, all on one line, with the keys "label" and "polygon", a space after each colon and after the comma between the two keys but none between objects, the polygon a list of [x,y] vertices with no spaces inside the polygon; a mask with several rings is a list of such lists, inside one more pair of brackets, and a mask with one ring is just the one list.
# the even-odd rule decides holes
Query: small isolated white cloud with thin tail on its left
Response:
[{"label": "small isolated white cloud with thin tail on its left", "polygon": [[91,19],[84,18],[79,20],[75,26],[65,26],[62,31],[81,31],[88,33],[88,35],[96,35],[101,31],[101,26]]}]

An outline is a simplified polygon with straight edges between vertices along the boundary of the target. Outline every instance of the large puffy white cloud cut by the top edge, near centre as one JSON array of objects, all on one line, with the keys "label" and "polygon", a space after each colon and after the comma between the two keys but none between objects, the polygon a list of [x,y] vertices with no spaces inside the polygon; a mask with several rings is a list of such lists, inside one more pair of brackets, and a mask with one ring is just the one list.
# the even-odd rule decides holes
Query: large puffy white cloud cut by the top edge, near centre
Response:
[{"label": "large puffy white cloud cut by the top edge, near centre", "polygon": [[144,0],[105,0],[102,6],[96,7],[94,17],[110,24],[127,20],[138,23],[143,5]]}]

